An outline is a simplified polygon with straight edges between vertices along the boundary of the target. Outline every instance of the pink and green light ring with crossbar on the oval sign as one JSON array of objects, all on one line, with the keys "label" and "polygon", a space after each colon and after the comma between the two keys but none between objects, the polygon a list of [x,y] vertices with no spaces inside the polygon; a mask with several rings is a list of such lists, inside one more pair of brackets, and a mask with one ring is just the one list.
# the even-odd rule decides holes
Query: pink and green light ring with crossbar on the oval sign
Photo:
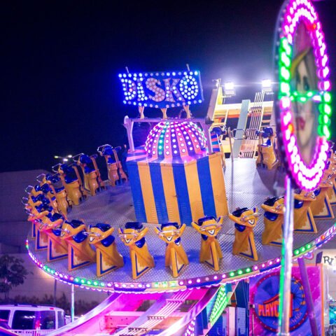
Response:
[{"label": "pink and green light ring with crossbar on the oval sign", "polygon": [[[318,75],[319,92],[308,91],[305,94],[291,92],[290,67],[293,54],[293,36],[299,22],[304,22],[311,35],[314,48],[315,63]],[[328,55],[321,22],[309,0],[290,0],[283,11],[281,33],[279,36],[279,110],[281,119],[281,133],[284,155],[288,162],[288,170],[297,186],[305,190],[314,190],[321,181],[323,170],[327,162],[328,144],[330,138],[330,116],[332,113],[330,102],[330,69]],[[293,124],[292,102],[318,103],[318,138],[314,159],[307,166],[300,155]],[[281,138],[281,137],[280,137]]]}]

